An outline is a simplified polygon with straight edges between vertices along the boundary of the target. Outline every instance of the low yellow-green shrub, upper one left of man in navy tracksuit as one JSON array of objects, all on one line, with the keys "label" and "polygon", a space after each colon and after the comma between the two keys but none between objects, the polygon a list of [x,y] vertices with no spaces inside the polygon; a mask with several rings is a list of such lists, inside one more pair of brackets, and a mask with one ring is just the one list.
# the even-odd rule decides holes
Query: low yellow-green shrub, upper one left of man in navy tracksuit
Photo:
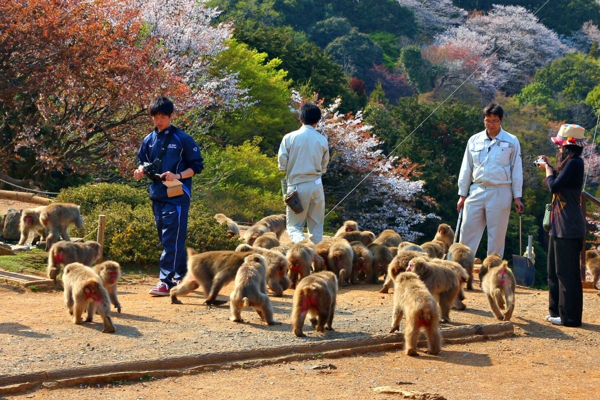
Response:
[{"label": "low yellow-green shrub, upper one left of man in navy tracksuit", "polygon": [[88,184],[62,190],[56,201],[69,201],[81,206],[82,214],[91,213],[97,206],[110,203],[125,203],[131,207],[149,203],[145,190],[125,184]]}]

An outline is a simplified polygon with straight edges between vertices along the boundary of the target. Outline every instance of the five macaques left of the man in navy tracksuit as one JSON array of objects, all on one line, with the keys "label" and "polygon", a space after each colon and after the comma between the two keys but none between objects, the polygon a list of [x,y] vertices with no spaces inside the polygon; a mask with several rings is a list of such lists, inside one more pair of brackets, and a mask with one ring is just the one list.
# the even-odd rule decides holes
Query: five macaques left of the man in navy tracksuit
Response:
[{"label": "five macaques left of the man in navy tracksuit", "polygon": [[65,265],[62,273],[65,305],[73,323],[82,323],[82,314],[87,310],[86,322],[91,322],[98,312],[104,323],[102,332],[115,332],[110,315],[110,303],[118,312],[121,304],[116,296],[116,282],[121,277],[121,266],[115,261],[90,267],[101,258],[100,243],[93,240],[71,242],[68,228],[71,224],[83,227],[80,207],[74,203],[50,203],[24,209],[21,213],[19,244],[25,244],[33,234],[32,244],[40,239],[46,241],[48,250],[47,276],[56,278]]}]

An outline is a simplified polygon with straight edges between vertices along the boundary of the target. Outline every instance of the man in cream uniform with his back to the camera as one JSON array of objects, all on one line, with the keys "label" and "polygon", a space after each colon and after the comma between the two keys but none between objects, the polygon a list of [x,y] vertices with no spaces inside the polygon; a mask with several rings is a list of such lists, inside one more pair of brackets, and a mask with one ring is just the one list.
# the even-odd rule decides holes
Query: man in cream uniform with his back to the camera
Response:
[{"label": "man in cream uniform with his back to the camera", "polygon": [[287,194],[294,190],[304,211],[296,214],[286,207],[287,234],[293,242],[304,240],[304,222],[307,222],[308,239],[319,243],[323,239],[325,219],[325,194],[321,176],[327,171],[329,146],[325,136],[315,127],[321,119],[321,110],[313,103],[300,107],[302,127],[288,133],[279,147],[279,170],[286,172]]}]

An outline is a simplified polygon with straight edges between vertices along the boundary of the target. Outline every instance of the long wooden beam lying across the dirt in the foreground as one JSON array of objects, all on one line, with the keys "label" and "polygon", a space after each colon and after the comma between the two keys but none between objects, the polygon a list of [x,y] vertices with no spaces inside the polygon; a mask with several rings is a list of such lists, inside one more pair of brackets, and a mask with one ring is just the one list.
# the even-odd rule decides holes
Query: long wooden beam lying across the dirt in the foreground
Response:
[{"label": "long wooden beam lying across the dirt in the foreground", "polygon": [[[446,344],[463,344],[512,336],[510,322],[474,324],[440,329]],[[291,335],[292,333],[290,333]],[[135,381],[142,377],[167,377],[198,374],[214,369],[247,368],[281,362],[304,360],[319,354],[320,358],[337,358],[357,353],[400,350],[403,333],[371,335],[370,338],[330,339],[299,345],[258,347],[243,351],[218,351],[165,359],[119,362],[107,365],[59,368],[28,374],[0,375],[0,395],[19,393],[37,387],[58,388],[80,384],[104,384],[111,381]],[[421,335],[419,345],[426,345]],[[440,357],[443,357],[440,353]]]}]

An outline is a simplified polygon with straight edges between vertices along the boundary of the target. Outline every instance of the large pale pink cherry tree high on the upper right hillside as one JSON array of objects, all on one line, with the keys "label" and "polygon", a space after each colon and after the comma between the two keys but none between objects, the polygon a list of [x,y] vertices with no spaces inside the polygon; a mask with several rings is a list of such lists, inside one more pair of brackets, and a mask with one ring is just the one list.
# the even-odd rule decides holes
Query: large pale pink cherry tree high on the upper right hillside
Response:
[{"label": "large pale pink cherry tree high on the upper right hillside", "polygon": [[437,35],[425,55],[441,61],[448,75],[458,79],[467,79],[478,65],[472,83],[490,95],[497,88],[517,91],[536,70],[568,51],[525,8],[494,5],[490,13],[473,14],[464,25]]}]

